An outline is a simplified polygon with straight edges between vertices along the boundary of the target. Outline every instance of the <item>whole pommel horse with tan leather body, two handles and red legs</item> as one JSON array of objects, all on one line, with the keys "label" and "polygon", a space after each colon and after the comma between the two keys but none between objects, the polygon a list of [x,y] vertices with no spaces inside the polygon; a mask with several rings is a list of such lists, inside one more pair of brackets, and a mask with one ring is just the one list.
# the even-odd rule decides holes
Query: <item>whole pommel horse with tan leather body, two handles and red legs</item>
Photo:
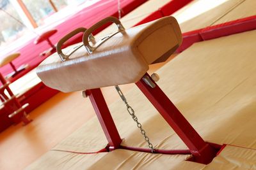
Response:
[{"label": "whole pommel horse with tan leather body, two handles and red legs", "polygon": [[[95,39],[92,32],[108,22],[115,23],[117,31]],[[83,43],[61,50],[63,43],[79,32],[84,32]],[[191,154],[189,160],[209,164],[220,146],[205,142],[147,73],[149,64],[165,61],[181,43],[180,27],[173,17],[160,18],[130,29],[124,29],[118,19],[108,17],[89,29],[78,28],[63,37],[57,45],[57,52],[45,59],[37,67],[36,73],[45,85],[53,89],[62,92],[83,90],[84,96],[90,98],[108,139],[109,152],[118,148],[150,152],[147,148],[122,146],[122,139],[100,91],[100,87],[135,83],[189,148],[154,148],[151,151]]]}]

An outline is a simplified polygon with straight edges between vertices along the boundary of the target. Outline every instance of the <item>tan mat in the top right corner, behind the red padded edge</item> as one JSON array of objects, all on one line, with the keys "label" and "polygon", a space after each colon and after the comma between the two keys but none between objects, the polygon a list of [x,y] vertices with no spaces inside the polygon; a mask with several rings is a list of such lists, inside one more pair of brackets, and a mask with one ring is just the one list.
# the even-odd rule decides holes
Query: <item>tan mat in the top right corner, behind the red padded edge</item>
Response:
[{"label": "tan mat in the top right corner, behind the red padded edge", "polygon": [[256,15],[255,0],[195,0],[173,13],[182,32]]}]

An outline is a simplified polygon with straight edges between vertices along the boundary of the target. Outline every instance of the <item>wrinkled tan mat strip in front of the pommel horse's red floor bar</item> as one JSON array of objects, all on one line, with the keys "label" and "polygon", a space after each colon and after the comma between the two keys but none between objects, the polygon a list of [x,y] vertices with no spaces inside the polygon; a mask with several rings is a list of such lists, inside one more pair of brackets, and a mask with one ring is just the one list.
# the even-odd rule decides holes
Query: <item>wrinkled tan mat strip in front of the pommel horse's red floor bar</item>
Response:
[{"label": "wrinkled tan mat strip in front of the pommel horse's red floor bar", "polygon": [[49,151],[26,169],[256,169],[256,150],[250,148],[228,145],[208,165],[184,161],[185,158],[185,156],[180,155],[161,155],[129,150],[86,155]]}]

